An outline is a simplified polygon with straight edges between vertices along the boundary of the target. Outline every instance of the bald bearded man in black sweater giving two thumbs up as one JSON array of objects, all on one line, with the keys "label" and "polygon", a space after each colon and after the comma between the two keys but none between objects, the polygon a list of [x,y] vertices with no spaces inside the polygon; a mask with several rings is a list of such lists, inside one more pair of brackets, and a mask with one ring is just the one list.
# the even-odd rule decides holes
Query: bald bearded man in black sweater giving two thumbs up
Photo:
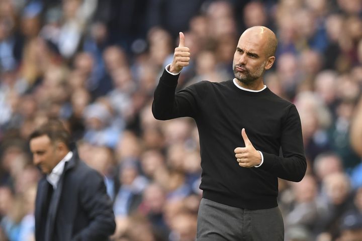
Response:
[{"label": "bald bearded man in black sweater giving two thumbs up", "polygon": [[262,26],[247,29],[236,46],[234,79],[201,81],[175,93],[191,55],[183,33],[179,39],[152,112],[162,120],[190,116],[198,126],[203,198],[197,240],[284,240],[278,177],[299,182],[307,164],[295,105],[263,83],[275,61],[275,34]]}]

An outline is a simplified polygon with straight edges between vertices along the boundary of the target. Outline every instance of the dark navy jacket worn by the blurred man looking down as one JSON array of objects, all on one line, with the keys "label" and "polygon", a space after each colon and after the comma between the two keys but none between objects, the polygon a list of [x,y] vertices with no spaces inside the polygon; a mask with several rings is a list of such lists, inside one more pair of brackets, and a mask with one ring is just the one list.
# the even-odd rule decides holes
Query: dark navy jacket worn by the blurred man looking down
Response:
[{"label": "dark navy jacket worn by the blurred man looking down", "polygon": [[108,240],[116,223],[112,201],[101,174],[80,161],[73,151],[73,157],[65,165],[53,191],[46,214],[49,185],[45,176],[38,183],[35,204],[37,241]]}]

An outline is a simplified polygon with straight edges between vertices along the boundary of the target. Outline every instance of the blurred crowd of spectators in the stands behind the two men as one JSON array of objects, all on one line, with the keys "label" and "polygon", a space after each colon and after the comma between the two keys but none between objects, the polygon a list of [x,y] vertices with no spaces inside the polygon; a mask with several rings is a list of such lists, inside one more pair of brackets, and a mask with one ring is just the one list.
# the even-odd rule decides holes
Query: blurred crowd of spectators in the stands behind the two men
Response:
[{"label": "blurred crowd of spectators in the stands behind the two men", "polygon": [[280,180],[286,240],[362,240],[361,14],[361,0],[1,0],[0,240],[34,240],[41,174],[27,138],[52,117],[105,177],[113,240],[194,240],[198,132],[156,121],[153,91],[179,31],[192,54],[183,88],[233,78],[255,25],[279,39],[264,82],[296,104],[308,159],[301,182]]}]

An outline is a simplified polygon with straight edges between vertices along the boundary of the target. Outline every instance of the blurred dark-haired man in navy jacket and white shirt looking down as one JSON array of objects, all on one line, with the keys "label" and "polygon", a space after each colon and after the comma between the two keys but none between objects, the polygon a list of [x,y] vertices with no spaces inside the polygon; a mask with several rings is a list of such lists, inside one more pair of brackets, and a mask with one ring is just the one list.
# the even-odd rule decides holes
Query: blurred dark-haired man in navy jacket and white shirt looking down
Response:
[{"label": "blurred dark-haired man in navy jacket and white shirt looking down", "polygon": [[30,135],[34,164],[45,174],[36,197],[36,240],[108,240],[116,224],[104,179],[79,160],[69,140],[60,121]]}]

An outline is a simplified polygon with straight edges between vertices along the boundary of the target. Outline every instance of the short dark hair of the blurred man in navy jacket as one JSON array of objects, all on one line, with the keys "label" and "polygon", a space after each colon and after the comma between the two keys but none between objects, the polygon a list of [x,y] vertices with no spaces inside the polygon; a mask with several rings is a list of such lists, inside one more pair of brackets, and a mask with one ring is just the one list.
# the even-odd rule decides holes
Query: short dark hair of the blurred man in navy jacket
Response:
[{"label": "short dark hair of the blurred man in navy jacket", "polygon": [[48,136],[51,143],[60,141],[70,149],[70,134],[65,129],[63,123],[58,119],[51,119],[45,124],[36,128],[34,132],[30,134],[29,141],[41,136]]}]

